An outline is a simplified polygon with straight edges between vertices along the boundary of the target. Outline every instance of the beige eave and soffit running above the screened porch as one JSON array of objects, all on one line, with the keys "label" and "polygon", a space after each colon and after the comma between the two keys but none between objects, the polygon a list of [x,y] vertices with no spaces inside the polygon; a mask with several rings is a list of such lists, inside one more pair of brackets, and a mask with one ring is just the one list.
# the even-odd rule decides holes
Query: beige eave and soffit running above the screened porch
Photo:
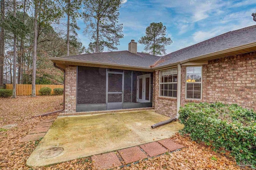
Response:
[{"label": "beige eave and soffit running above the screened porch", "polygon": [[[154,69],[151,67],[141,67],[141,66],[131,66],[126,64],[114,64],[114,63],[102,63],[102,62],[96,62],[96,61],[84,61],[84,60],[77,60],[77,59],[65,59],[65,58],[58,58],[58,57],[49,57],[49,59],[56,64],[69,64],[69,65],[95,65],[98,67],[106,68],[107,66],[110,67],[118,67],[118,68],[124,68],[125,70],[142,70],[142,71],[148,71],[148,72],[154,72]],[[79,64],[80,63],[80,64]]]}]

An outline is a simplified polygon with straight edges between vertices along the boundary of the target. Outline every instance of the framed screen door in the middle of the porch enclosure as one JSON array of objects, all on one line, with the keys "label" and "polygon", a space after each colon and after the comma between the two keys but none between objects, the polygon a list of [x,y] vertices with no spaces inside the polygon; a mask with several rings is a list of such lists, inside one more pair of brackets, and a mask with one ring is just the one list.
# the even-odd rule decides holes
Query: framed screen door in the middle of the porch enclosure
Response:
[{"label": "framed screen door in the middle of the porch enclosure", "polygon": [[108,72],[107,109],[122,109],[124,100],[124,73]]}]

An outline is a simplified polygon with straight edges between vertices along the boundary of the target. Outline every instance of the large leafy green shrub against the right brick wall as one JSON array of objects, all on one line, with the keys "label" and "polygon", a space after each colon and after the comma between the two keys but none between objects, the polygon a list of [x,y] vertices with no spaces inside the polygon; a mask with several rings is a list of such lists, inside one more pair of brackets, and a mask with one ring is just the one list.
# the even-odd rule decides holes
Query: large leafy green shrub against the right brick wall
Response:
[{"label": "large leafy green shrub against the right brick wall", "polygon": [[188,103],[180,108],[182,133],[214,150],[229,150],[238,164],[256,165],[256,113],[236,104]]}]

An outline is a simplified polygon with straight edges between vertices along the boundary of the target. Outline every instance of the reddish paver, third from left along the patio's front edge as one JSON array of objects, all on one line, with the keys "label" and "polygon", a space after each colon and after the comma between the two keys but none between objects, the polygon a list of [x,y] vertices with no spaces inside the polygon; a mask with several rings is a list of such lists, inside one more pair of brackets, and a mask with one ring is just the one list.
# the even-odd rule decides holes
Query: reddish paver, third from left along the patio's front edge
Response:
[{"label": "reddish paver, third from left along the patio's front edge", "polygon": [[168,152],[167,149],[165,149],[162,145],[160,145],[157,142],[147,143],[144,145],[140,145],[140,147],[150,156],[156,156],[159,154],[163,154],[165,152]]}]

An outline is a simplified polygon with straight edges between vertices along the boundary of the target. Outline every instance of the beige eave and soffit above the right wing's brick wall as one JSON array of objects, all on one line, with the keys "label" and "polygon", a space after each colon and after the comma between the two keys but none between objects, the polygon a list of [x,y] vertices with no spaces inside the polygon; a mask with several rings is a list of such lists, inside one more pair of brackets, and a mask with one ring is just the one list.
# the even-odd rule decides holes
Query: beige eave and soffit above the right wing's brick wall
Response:
[{"label": "beige eave and soffit above the right wing's brick wall", "polygon": [[[201,55],[201,56],[194,57],[192,59],[187,59],[187,60],[184,60],[184,61],[180,61],[180,62],[177,62],[177,63],[166,64],[164,66],[156,66],[153,69],[154,70],[161,70],[162,68],[172,67],[172,66],[187,63],[187,62],[190,62],[190,61],[196,61],[196,60],[200,60],[200,59],[207,59],[207,58],[212,57],[212,56],[221,55],[221,54],[225,54],[225,53],[230,53],[230,52],[238,51],[238,50],[242,50],[242,49],[248,49],[248,48],[251,48],[251,47],[256,47],[256,42],[255,43],[250,43],[250,44],[247,44],[247,45],[237,46],[237,47],[230,48],[230,49],[216,51],[214,53],[208,53],[206,55]],[[228,57],[228,56],[226,56],[226,57]]]}]

